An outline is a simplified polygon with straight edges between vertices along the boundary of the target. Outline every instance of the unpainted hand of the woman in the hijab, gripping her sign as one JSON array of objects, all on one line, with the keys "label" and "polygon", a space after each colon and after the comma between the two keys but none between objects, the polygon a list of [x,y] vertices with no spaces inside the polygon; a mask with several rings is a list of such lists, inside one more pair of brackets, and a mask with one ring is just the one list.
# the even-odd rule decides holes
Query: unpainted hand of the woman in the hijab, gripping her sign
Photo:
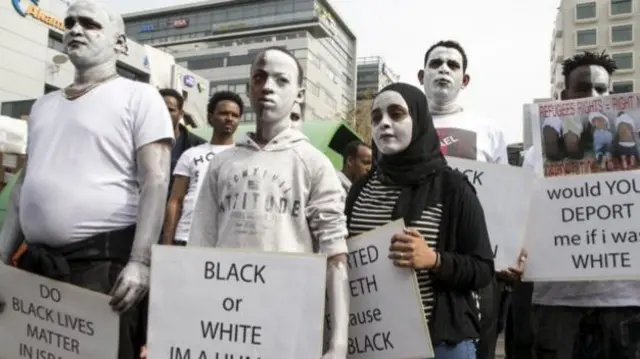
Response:
[{"label": "unpainted hand of the woman in the hijab, gripping her sign", "polygon": [[389,259],[398,267],[431,269],[436,266],[438,253],[413,228],[405,228],[391,238]]}]

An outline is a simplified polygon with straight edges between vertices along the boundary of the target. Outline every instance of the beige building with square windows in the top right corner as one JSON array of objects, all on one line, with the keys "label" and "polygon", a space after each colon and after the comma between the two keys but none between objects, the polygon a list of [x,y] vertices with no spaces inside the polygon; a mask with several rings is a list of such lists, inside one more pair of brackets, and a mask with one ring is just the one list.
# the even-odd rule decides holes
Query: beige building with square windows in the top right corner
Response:
[{"label": "beige building with square windows in the top right corner", "polygon": [[583,51],[611,54],[618,65],[614,93],[637,91],[640,63],[638,0],[562,0],[551,40],[550,95],[560,99],[564,88],[562,61]]}]

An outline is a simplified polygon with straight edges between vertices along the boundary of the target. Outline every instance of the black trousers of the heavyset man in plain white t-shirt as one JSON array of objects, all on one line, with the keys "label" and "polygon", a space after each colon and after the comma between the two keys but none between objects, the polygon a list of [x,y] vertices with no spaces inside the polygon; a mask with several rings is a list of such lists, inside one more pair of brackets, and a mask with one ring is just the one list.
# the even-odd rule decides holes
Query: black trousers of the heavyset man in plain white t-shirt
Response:
[{"label": "black trousers of the heavyset man in plain white t-shirt", "polygon": [[[91,237],[64,248],[28,244],[18,267],[102,294],[109,294],[129,258],[135,227]],[[124,238],[123,238],[124,237]],[[28,242],[27,242],[28,243]],[[138,359],[140,311],[120,315],[118,359]]]}]

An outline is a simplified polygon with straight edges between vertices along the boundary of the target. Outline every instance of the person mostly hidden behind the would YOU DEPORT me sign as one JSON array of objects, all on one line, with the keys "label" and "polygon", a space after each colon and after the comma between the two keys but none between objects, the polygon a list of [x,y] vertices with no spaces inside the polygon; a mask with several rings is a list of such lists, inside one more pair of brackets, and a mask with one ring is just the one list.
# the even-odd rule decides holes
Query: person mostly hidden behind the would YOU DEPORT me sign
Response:
[{"label": "person mostly hidden behind the would YOU DEPORT me sign", "polygon": [[[566,59],[562,99],[609,95],[615,70],[604,52]],[[538,153],[533,147],[527,150],[523,167],[542,176]],[[640,281],[537,282],[532,302],[534,358],[638,358]]]}]

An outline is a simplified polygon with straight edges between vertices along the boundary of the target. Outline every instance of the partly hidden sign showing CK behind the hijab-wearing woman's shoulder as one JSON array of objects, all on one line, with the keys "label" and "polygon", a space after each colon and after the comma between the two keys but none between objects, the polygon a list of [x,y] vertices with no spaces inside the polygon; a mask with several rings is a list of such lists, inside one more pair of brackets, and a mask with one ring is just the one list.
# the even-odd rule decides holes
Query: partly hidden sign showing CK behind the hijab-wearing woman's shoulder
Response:
[{"label": "partly hidden sign showing CK behind the hijab-wearing woman's shoulder", "polygon": [[496,270],[517,262],[525,237],[534,175],[522,167],[447,157],[476,188],[484,210]]}]

